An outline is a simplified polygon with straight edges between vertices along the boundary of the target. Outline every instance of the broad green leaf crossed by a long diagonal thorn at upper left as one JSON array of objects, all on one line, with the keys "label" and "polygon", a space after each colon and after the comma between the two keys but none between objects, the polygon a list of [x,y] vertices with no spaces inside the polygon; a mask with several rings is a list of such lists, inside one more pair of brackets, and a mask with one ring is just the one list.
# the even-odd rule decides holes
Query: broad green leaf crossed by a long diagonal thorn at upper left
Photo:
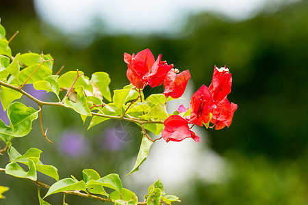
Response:
[{"label": "broad green leaf crossed by a long diagonal thorn at upper left", "polygon": [[[20,83],[25,83],[25,81],[29,78],[29,76],[38,68],[40,64],[33,64],[32,66],[29,66],[27,68],[23,68],[21,72],[19,73],[18,80]],[[8,68],[7,68],[8,70]],[[37,81],[44,81],[47,77],[51,76],[52,70],[50,70],[47,66],[44,64],[36,70],[30,77],[30,79],[27,81],[27,84],[35,83]],[[10,84],[16,84],[18,81],[16,81],[16,78],[10,78],[9,79]]]}]

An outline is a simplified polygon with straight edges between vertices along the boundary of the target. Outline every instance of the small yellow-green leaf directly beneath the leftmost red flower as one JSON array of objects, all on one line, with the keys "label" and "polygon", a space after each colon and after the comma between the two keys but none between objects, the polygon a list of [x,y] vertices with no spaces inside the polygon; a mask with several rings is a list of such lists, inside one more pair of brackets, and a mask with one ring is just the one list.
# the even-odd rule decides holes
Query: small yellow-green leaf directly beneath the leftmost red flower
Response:
[{"label": "small yellow-green leaf directly beneath the leftmost red flower", "polygon": [[139,96],[139,93],[136,90],[131,88],[114,90],[114,105],[118,108],[122,108],[122,105],[128,102],[129,100],[135,100]]}]

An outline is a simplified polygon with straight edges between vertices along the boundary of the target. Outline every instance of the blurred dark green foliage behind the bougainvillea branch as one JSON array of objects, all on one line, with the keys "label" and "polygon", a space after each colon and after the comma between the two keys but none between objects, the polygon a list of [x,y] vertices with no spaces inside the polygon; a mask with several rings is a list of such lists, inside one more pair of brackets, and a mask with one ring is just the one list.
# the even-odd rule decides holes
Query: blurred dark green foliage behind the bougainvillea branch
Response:
[{"label": "blurred dark green foliage behind the bougainvillea branch", "polygon": [[[63,72],[78,68],[88,76],[92,72],[108,72],[112,79],[111,90],[129,83],[124,52],[137,53],[149,48],[155,56],[162,53],[162,59],[180,70],[190,69],[196,89],[202,84],[209,85],[214,65],[227,64],[233,74],[233,92],[229,99],[239,108],[230,128],[209,131],[209,134],[211,148],[233,164],[232,176],[222,184],[198,183],[196,191],[187,198],[180,196],[181,204],[308,204],[307,1],[241,22],[198,14],[191,16],[183,31],[174,38],[102,36],[87,47],[70,44],[67,36],[40,22],[31,1],[20,5],[14,2],[0,4],[1,24],[7,36],[12,36],[17,29],[20,31],[10,44],[14,55],[17,51],[44,51],[53,55],[54,70],[64,65]],[[60,140],[64,129],[82,127],[81,120],[76,120],[77,115],[65,113],[66,116],[59,118],[52,115],[55,111],[61,112],[53,108],[43,114],[44,124],[49,126],[49,135],[55,137],[55,141]],[[90,152],[95,157],[87,161],[87,165],[79,163],[82,157],[68,160],[45,155],[44,161],[55,166],[75,167],[76,173],[71,169],[62,170],[62,177],[70,174],[78,177],[79,171],[85,168],[101,170],[101,175],[117,172],[119,167],[115,162],[134,156],[141,139],[127,143],[120,152],[101,150],[97,141],[108,125],[106,122],[105,126],[90,131],[84,126],[77,131],[93,136]],[[14,146],[16,144],[21,152],[31,146],[57,154],[56,148],[49,146],[42,136],[29,137],[38,139],[27,142],[29,146],[25,146],[25,140],[16,140]],[[97,159],[101,165],[95,164]],[[2,178],[3,175],[1,185],[10,187],[10,191],[0,204],[38,203],[36,193],[32,193],[34,184],[10,176]],[[23,188],[15,184],[22,184]],[[16,193],[23,194],[20,197],[23,202],[13,197]],[[73,202],[76,201],[72,198]]]}]

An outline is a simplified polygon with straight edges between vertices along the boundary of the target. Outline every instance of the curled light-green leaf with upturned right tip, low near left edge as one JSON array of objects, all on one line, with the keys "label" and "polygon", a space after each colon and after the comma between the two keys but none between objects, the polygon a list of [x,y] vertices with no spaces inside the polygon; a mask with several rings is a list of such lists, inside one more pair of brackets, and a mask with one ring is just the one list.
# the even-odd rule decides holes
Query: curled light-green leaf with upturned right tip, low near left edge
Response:
[{"label": "curled light-green leaf with upturned right tip, low near left edge", "polygon": [[29,172],[25,172],[25,170],[23,170],[23,168],[16,162],[8,163],[5,167],[5,174],[10,174],[18,178],[29,178],[30,180],[36,181],[36,166],[34,161],[28,159],[28,163]]}]

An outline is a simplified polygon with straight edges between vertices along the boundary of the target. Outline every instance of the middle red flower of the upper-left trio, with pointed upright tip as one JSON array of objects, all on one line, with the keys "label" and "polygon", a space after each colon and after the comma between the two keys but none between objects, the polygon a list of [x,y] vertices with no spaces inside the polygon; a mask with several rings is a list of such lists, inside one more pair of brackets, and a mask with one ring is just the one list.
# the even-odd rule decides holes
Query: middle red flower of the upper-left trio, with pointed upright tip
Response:
[{"label": "middle red flower of the upper-left trio, with pointed upright tip", "polygon": [[164,83],[166,74],[173,68],[173,65],[168,65],[166,61],[161,61],[162,55],[158,55],[157,60],[149,70],[149,72],[142,78],[151,87],[156,87]]}]

